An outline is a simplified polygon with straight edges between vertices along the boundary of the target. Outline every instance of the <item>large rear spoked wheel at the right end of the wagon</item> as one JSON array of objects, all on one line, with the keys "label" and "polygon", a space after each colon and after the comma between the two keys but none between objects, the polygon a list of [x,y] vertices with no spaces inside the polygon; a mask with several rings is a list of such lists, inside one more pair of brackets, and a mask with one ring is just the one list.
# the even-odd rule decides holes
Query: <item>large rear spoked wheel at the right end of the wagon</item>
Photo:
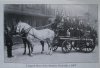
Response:
[{"label": "large rear spoked wheel at the right end of the wagon", "polygon": [[93,44],[93,41],[89,40],[86,41],[85,44],[82,45],[81,51],[84,53],[90,53],[94,50],[95,45]]}]

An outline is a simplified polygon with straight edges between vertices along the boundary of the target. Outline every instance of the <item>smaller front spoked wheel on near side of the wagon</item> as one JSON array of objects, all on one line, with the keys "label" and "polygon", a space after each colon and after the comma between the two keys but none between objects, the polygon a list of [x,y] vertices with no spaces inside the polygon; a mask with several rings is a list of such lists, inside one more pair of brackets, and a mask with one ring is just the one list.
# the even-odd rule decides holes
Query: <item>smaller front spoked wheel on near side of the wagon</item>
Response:
[{"label": "smaller front spoked wheel on near side of the wagon", "polygon": [[70,42],[68,42],[67,40],[65,40],[62,43],[62,52],[63,53],[69,53],[72,49],[72,45],[70,44]]}]

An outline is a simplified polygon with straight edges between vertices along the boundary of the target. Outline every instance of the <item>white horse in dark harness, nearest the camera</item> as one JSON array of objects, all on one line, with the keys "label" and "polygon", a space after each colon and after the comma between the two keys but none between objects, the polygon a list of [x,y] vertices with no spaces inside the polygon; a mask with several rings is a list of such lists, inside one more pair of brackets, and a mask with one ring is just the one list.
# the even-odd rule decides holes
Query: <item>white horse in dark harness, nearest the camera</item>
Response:
[{"label": "white horse in dark harness, nearest the camera", "polygon": [[[52,43],[55,36],[54,31],[50,29],[42,29],[42,30],[36,30],[35,28],[32,28],[30,25],[24,22],[19,22],[17,25],[16,32],[20,33],[22,29],[27,33],[27,40],[30,43],[30,47],[34,48],[34,39],[37,39],[39,41],[47,42],[49,52],[48,54],[52,54]],[[42,49],[42,52],[44,49]],[[33,51],[32,51],[33,52]],[[31,55],[30,49],[29,49],[29,55]]]}]

